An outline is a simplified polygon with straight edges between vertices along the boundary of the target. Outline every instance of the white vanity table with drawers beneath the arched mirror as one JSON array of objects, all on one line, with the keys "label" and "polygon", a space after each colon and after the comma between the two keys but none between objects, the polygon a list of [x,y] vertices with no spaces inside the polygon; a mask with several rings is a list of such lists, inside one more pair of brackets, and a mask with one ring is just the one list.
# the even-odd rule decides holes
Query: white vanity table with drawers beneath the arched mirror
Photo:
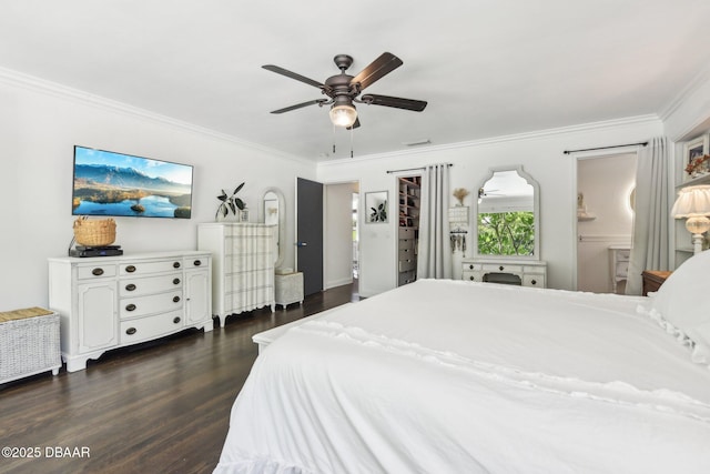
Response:
[{"label": "white vanity table with drawers beneath the arched mirror", "polygon": [[463,259],[462,280],[546,288],[547,262],[495,258]]}]

